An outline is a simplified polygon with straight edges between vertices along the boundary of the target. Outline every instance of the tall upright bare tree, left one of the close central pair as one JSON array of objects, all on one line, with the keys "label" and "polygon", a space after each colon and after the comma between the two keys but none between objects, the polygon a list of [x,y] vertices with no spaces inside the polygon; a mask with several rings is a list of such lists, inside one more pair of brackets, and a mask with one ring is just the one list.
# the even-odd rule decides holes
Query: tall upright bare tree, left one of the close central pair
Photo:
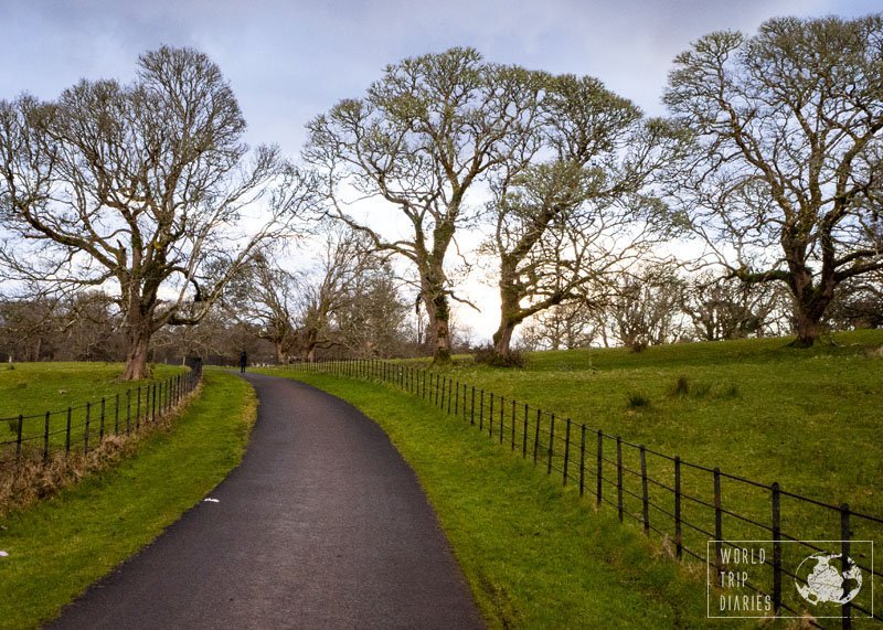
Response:
[{"label": "tall upright bare tree, left one of the close central pair", "polygon": [[[451,49],[389,66],[365,98],[342,100],[309,125],[306,156],[328,177],[334,216],[416,268],[437,361],[450,357],[446,257],[471,220],[468,195],[490,169],[529,156],[544,77]],[[375,218],[359,217],[347,192],[382,200],[400,221],[376,203]],[[383,216],[392,229],[382,233]]]}]

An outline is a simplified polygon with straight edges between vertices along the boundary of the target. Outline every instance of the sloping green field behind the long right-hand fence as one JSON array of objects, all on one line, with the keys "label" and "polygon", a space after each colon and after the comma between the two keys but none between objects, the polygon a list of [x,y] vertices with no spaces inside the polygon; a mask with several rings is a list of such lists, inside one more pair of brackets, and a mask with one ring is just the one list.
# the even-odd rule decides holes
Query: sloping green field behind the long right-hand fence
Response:
[{"label": "sloping green field behind the long right-hand fence", "polygon": [[[883,331],[529,354],[443,373],[709,468],[883,513]],[[678,393],[683,380],[689,392]],[[638,404],[636,404],[638,403]]]}]

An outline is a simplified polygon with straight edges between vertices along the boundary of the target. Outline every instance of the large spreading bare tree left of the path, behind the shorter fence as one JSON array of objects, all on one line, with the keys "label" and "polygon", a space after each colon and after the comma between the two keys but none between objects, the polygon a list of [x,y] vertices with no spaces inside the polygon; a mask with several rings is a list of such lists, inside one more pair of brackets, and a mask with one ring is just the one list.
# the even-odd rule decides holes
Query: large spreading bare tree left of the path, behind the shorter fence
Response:
[{"label": "large spreading bare tree left of the path, behind the shorter fence", "polygon": [[[309,202],[274,148],[249,158],[221,71],[191,49],[139,58],[130,85],[82,81],[54,103],[0,102],[0,220],[19,276],[114,287],[125,378],[151,337],[205,316],[260,242]],[[234,228],[245,213],[255,229]],[[259,216],[264,218],[258,218]]]}]

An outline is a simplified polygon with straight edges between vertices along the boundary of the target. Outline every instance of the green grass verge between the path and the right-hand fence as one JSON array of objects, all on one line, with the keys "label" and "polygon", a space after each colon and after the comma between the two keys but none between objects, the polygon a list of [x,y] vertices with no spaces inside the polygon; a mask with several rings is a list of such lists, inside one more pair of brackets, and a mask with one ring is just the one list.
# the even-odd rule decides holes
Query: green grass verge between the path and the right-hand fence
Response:
[{"label": "green grass verge between the path and the right-hand fence", "polygon": [[706,626],[704,567],[691,574],[670,562],[661,545],[596,512],[530,460],[392,388],[297,377],[351,402],[390,435],[492,628]]}]

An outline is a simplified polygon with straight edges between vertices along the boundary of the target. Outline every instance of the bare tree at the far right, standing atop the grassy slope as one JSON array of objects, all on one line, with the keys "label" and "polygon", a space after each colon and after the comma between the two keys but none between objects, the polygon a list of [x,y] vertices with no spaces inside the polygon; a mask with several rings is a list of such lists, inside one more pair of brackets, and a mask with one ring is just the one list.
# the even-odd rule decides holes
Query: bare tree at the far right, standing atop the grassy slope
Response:
[{"label": "bare tree at the far right, standing atop the grassy slope", "polygon": [[837,287],[883,268],[883,15],[776,19],[675,58],[666,103],[695,135],[680,195],[744,282],[783,282],[798,346]]}]

